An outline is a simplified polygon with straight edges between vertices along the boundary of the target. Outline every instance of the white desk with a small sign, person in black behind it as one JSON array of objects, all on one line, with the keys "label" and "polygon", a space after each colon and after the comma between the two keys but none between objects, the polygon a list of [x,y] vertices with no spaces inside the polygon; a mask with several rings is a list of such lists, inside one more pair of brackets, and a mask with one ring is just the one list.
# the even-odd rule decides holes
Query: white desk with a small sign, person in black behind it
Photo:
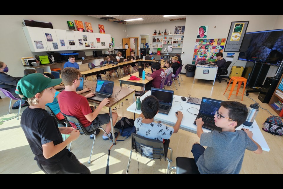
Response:
[{"label": "white desk with a small sign, person in black behind it", "polygon": [[197,64],[195,68],[194,83],[195,83],[195,79],[206,79],[206,80],[213,80],[213,85],[214,85],[217,70],[218,70],[217,66],[207,66],[207,65]]}]

